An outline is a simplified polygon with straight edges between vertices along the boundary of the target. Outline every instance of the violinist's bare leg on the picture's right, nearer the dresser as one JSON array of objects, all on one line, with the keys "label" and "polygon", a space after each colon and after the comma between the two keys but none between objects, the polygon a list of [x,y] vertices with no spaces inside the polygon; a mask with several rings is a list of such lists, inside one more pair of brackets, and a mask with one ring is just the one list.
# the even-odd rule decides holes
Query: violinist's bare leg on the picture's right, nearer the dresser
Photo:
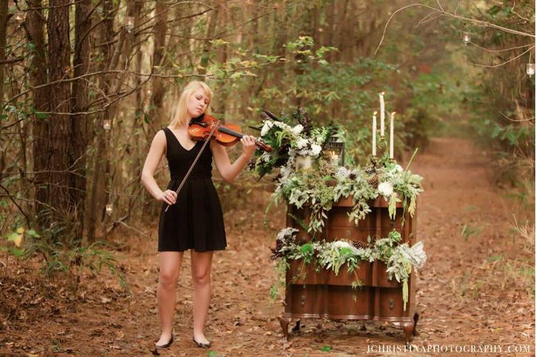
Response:
[{"label": "violinist's bare leg on the picture's right, nearer the dresser", "polygon": [[210,304],[210,271],[212,252],[191,251],[191,278],[194,281],[194,338],[208,343],[203,332]]}]

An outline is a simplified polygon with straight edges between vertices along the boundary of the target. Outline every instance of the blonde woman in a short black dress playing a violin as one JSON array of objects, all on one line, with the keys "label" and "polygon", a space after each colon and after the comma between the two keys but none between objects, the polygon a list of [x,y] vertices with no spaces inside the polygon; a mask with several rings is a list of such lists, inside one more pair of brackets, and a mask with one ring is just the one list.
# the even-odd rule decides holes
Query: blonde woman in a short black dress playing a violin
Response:
[{"label": "blonde woman in a short black dress playing a violin", "polygon": [[[191,81],[182,90],[175,115],[168,127],[153,138],[141,181],[150,194],[161,201],[158,228],[159,283],[157,289],[161,335],[157,347],[173,343],[171,332],[175,311],[175,285],[179,276],[182,255],[191,249],[191,276],[194,283],[194,342],[198,347],[210,347],[203,328],[210,303],[210,270],[214,251],[226,248],[226,234],[219,198],[211,180],[212,158],[221,178],[232,182],[244,169],[255,151],[255,138],[244,136],[242,154],[230,163],[226,148],[210,141],[196,166],[177,195],[182,178],[203,146],[192,141],[188,134],[191,118],[210,114],[212,90],[201,81]],[[166,155],[171,182],[161,191],[153,177],[161,157]],[[166,212],[164,208],[170,205]]]}]

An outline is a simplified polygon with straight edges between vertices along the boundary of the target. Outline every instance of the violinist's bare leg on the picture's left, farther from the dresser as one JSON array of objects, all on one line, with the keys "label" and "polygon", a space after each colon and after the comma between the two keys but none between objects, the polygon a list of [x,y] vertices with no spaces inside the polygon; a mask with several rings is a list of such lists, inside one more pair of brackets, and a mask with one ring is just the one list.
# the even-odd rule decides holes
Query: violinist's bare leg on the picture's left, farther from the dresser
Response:
[{"label": "violinist's bare leg on the picture's left, farther from the dresser", "polygon": [[161,252],[157,301],[162,333],[157,344],[166,344],[171,338],[175,312],[175,287],[182,264],[182,252]]}]

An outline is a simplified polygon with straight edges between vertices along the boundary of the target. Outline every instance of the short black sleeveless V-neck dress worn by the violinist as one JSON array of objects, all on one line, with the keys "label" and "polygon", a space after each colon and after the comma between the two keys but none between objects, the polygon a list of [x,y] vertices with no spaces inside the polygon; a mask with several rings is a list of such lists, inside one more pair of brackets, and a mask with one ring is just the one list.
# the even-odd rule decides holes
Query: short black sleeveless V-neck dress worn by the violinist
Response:
[{"label": "short black sleeveless V-neck dress worn by the violinist", "polygon": [[[194,148],[186,150],[171,129],[164,128],[167,141],[171,181],[167,189],[178,189],[191,163],[203,146],[198,141]],[[177,203],[164,212],[162,205],[158,225],[158,251],[196,252],[223,251],[227,246],[223,214],[218,193],[212,184],[212,151],[210,143],[199,157],[184,186],[180,190]]]}]

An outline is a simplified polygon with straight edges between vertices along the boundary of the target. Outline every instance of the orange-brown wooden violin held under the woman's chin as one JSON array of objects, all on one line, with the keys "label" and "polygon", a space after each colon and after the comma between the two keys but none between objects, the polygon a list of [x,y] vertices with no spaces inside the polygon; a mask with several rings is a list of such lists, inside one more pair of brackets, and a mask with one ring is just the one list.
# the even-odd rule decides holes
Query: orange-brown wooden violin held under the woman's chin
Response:
[{"label": "orange-brown wooden violin held under the woman's chin", "polygon": [[[194,141],[205,141],[210,136],[212,129],[214,133],[212,138],[223,146],[232,146],[238,143],[238,141],[244,136],[242,135],[242,129],[237,124],[220,124],[219,120],[213,116],[203,114],[198,118],[193,118],[189,122],[188,134]],[[271,151],[271,147],[266,143],[263,143],[260,138],[255,140],[255,145],[265,151]]]}]

